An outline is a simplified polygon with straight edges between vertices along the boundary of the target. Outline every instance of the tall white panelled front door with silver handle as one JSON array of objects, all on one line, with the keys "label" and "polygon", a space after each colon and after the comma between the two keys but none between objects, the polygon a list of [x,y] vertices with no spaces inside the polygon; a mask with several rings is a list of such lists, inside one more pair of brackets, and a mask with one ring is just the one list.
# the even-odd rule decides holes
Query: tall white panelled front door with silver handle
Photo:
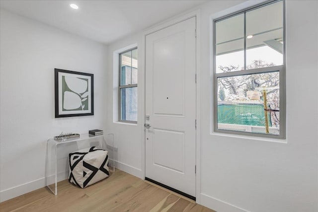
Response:
[{"label": "tall white panelled front door with silver handle", "polygon": [[146,177],[195,197],[196,18],[146,36]]}]

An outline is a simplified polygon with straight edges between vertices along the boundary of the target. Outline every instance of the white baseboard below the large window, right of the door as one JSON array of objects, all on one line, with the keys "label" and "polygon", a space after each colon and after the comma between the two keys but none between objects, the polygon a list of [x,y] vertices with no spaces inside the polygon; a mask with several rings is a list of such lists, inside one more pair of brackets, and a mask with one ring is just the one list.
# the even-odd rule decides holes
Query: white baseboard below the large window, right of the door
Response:
[{"label": "white baseboard below the large window, right of the door", "polygon": [[234,206],[230,203],[226,203],[222,200],[218,200],[206,194],[201,193],[200,196],[201,205],[217,212],[249,212],[247,210],[241,209],[237,206]]}]

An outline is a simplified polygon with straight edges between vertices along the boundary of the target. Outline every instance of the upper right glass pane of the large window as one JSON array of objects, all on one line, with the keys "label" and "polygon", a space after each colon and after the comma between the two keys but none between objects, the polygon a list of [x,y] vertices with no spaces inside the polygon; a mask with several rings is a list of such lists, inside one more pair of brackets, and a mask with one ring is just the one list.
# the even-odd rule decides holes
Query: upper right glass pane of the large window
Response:
[{"label": "upper right glass pane of the large window", "polygon": [[246,12],[246,69],[283,65],[283,2]]}]

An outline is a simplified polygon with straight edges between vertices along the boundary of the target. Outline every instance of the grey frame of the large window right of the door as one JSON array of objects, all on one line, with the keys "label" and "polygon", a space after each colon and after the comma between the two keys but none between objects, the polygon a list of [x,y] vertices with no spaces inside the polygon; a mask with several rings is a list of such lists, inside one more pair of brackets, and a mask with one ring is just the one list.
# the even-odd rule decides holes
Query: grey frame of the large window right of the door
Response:
[{"label": "grey frame of the large window right of the door", "polygon": [[[283,65],[273,66],[273,67],[264,67],[257,69],[248,69],[246,70],[246,12],[258,9],[272,3],[282,1],[283,4]],[[244,14],[244,70],[233,71],[233,72],[222,72],[217,73],[216,67],[216,22],[222,21],[233,16]],[[285,0],[271,0],[264,3],[260,3],[242,10],[239,10],[228,15],[215,18],[212,20],[213,23],[213,131],[215,133],[230,134],[230,135],[240,135],[240,136],[249,136],[249,137],[261,137],[261,138],[270,138],[270,139],[286,139],[286,24],[285,24]],[[279,116],[280,116],[280,126],[279,126],[279,135],[273,134],[262,134],[262,133],[252,133],[244,131],[234,131],[234,130],[222,130],[218,129],[218,78],[229,77],[229,76],[241,76],[248,74],[258,74],[258,73],[268,73],[279,71]]]}]

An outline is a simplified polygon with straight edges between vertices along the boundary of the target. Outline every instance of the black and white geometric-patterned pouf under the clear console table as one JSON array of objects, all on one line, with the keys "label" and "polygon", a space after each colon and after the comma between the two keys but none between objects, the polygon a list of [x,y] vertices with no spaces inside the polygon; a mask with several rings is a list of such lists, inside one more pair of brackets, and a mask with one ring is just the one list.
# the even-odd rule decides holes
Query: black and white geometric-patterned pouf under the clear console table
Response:
[{"label": "black and white geometric-patterned pouf under the clear console table", "polygon": [[85,188],[109,176],[107,151],[95,146],[69,154],[69,181]]}]

